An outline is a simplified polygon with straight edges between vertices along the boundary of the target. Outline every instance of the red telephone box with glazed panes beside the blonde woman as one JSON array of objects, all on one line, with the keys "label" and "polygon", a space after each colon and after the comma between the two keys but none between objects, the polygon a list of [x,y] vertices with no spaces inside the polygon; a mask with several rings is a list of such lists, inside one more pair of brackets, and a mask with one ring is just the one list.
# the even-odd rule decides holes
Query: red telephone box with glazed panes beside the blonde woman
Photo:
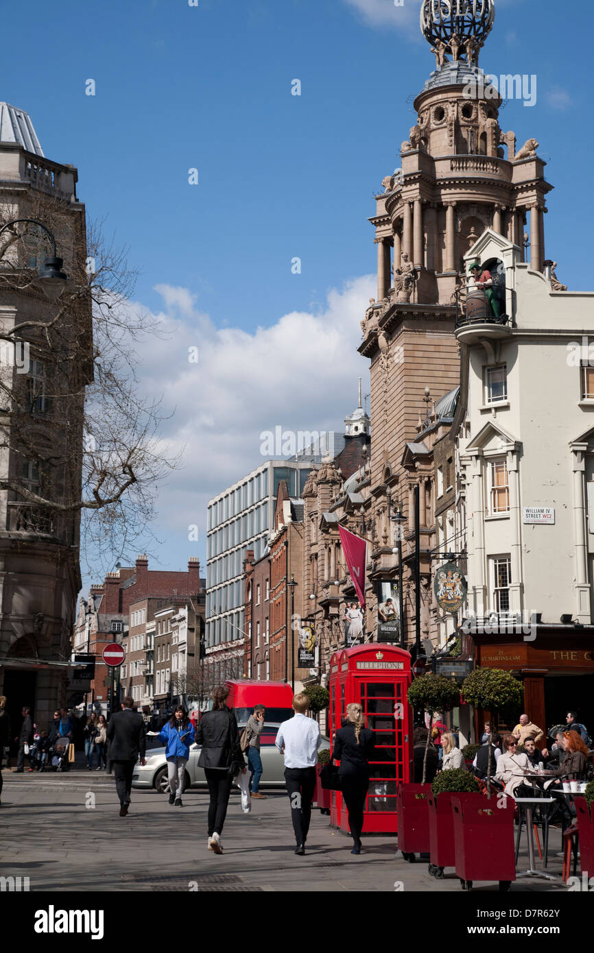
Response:
[{"label": "red telephone box with glazed panes beside the blonde woman", "polygon": [[[330,737],[333,741],[346,706],[357,701],[366,728],[375,735],[375,757],[365,801],[366,832],[397,830],[396,792],[410,781],[413,750],[413,713],[406,700],[411,683],[410,654],[394,645],[356,645],[336,652],[330,661]],[[346,805],[332,791],[331,823],[348,831]]]}]

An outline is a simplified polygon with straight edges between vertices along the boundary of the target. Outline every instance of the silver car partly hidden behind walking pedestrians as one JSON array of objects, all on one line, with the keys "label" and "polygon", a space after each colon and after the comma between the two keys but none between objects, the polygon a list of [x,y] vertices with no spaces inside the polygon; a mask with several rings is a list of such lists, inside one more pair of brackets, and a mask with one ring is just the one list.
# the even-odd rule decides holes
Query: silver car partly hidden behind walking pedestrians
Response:
[{"label": "silver car partly hidden behind walking pedestrians", "polygon": [[[243,725],[239,725],[239,732]],[[264,731],[260,739],[260,757],[262,759],[262,778],[260,787],[284,787],[284,758],[275,746],[277,737],[277,724],[265,724]],[[318,751],[330,748],[330,740],[324,735],[321,736],[318,745]],[[206,787],[206,777],[204,769],[198,767],[198,758],[201,748],[197,744],[190,747],[190,758],[186,764],[186,781],[184,788]],[[247,758],[247,756],[246,756]],[[147,763],[144,766],[134,764],[132,786],[142,788],[154,788],[155,791],[165,792],[169,789],[167,781],[167,760],[165,759],[165,748],[150,748],[146,754]]]}]

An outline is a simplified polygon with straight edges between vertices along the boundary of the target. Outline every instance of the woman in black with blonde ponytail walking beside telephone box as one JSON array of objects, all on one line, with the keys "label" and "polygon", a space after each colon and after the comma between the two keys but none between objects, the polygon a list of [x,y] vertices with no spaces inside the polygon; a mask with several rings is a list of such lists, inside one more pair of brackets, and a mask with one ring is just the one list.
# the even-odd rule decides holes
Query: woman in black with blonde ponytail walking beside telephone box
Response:
[{"label": "woman in black with blonde ponytail walking beside telephone box", "polygon": [[339,728],[331,760],[339,760],[340,790],[349,815],[353,838],[351,854],[361,852],[363,809],[369,787],[369,759],[373,755],[374,733],[363,728],[363,709],[357,702],[346,706],[347,722]]}]

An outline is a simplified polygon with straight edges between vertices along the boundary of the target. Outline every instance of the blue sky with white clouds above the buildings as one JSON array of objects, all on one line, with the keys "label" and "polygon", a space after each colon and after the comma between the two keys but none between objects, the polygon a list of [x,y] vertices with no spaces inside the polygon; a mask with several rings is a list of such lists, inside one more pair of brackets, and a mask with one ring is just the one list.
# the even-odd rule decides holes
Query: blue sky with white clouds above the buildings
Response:
[{"label": "blue sky with white clouds above the buildings", "polygon": [[[536,137],[549,162],[546,251],[572,290],[594,285],[585,6],[563,8],[562,30],[552,0],[498,0],[481,54],[486,71],[538,77],[536,106],[512,101],[500,121],[519,146]],[[341,429],[355,406],[367,373],[360,308],[374,294],[366,219],[435,63],[418,11],[418,0],[4,6],[0,99],[31,114],[47,156],[78,168],[88,215],[107,216],[141,270],[135,300],[172,332],[139,355],[178,410],[167,436],[186,446],[159,502],[154,556],[166,568],[203,554],[186,527],[203,528],[206,499],[260,462],[262,430]],[[201,358],[193,378],[194,343],[210,363]]]}]

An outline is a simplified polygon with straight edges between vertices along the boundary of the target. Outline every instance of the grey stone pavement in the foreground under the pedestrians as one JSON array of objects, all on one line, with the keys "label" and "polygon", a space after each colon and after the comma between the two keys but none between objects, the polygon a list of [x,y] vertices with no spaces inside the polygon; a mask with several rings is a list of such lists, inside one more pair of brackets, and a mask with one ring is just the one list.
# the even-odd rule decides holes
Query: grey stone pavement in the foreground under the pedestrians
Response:
[{"label": "grey stone pavement in the foreground under the pedestrians", "polygon": [[[31,891],[394,891],[457,892],[453,870],[436,881],[427,862],[408,863],[390,835],[363,834],[363,853],[314,809],[305,857],[294,854],[286,794],[267,791],[241,812],[232,794],[224,853],[207,849],[208,794],[192,789],[184,807],[155,791],[133,789],[131,812],[119,817],[113,777],[81,770],[16,775],[5,769],[0,806],[0,874],[28,876]],[[561,834],[552,830],[549,869],[561,873]],[[527,867],[526,851],[519,869]],[[537,860],[537,867],[540,867]],[[476,883],[475,894],[498,891]],[[522,880],[512,892],[565,891],[561,882]]]}]

